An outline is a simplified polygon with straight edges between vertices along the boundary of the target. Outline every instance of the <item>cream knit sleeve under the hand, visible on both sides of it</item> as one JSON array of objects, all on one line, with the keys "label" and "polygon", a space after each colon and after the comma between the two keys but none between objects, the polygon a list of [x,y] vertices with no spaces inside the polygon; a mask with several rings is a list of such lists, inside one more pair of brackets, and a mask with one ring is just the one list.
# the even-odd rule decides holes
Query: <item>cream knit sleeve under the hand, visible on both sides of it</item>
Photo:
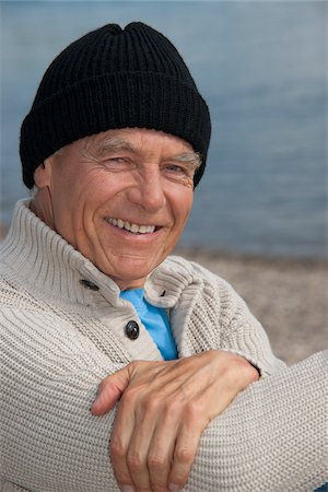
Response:
[{"label": "cream knit sleeve under the hand, visible on both sides of it", "polygon": [[[89,409],[98,382],[126,362],[110,362],[56,316],[2,313],[1,490],[118,491],[108,456],[115,411]],[[185,490],[305,492],[323,482],[324,384],[321,354],[251,385],[206,430]]]}]

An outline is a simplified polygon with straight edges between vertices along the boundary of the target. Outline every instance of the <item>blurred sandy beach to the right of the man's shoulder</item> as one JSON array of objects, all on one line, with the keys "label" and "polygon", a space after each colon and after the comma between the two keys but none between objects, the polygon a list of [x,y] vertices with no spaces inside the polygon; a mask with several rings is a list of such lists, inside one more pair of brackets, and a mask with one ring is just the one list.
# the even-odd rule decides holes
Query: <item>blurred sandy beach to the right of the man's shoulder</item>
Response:
[{"label": "blurred sandy beach to the right of the man's shoulder", "polygon": [[175,253],[227,280],[288,364],[328,349],[328,262]]}]

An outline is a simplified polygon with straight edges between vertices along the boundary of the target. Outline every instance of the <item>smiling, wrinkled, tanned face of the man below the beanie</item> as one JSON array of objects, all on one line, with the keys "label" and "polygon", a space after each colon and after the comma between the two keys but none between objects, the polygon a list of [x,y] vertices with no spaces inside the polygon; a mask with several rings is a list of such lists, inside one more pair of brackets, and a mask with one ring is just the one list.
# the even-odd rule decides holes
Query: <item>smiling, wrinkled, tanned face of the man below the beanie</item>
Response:
[{"label": "smiling, wrinkled, tanned face of the man below the beanie", "polygon": [[141,286],[184,230],[198,165],[177,137],[109,130],[67,145],[36,169],[34,210],[121,290]]}]

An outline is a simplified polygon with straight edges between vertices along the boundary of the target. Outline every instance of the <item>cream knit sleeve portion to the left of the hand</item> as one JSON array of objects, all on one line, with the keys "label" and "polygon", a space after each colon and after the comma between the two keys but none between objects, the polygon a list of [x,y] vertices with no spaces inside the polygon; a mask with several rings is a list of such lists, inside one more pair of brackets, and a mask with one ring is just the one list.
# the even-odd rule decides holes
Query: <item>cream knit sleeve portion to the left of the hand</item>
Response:
[{"label": "cream knit sleeve portion to the left of the hand", "polygon": [[115,412],[95,418],[90,407],[99,380],[126,362],[40,312],[2,309],[0,339],[1,476],[37,492],[118,490],[108,455]]}]

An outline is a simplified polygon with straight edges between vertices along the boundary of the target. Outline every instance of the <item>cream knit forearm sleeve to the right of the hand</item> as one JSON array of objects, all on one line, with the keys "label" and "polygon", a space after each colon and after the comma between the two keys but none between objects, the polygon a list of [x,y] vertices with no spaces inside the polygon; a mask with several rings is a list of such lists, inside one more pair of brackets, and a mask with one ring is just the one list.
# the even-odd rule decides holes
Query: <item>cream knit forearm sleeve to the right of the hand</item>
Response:
[{"label": "cream knit forearm sleeve to the right of the hand", "polygon": [[210,423],[186,492],[309,492],[328,480],[328,352],[255,383]]}]

